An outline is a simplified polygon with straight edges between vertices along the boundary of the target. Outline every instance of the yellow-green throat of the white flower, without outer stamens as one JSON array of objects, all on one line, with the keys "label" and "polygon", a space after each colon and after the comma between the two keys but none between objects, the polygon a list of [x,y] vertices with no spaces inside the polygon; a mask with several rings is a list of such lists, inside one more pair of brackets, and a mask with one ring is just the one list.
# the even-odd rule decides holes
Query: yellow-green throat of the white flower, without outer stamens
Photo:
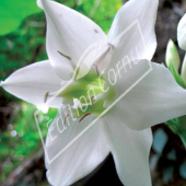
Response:
[{"label": "yellow-green throat of the white flower, without outer stamens", "polygon": [[114,90],[104,93],[106,81],[95,72],[89,72],[85,77],[74,80],[61,93],[66,103],[71,103],[73,116],[79,121],[89,115],[101,115],[105,109],[105,102],[114,97]]}]

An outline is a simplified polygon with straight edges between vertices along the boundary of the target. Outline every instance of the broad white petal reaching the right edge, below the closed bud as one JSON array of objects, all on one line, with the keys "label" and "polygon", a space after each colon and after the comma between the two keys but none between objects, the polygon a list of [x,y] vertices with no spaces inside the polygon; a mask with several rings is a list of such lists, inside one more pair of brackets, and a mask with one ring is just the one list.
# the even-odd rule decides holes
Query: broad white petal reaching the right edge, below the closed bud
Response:
[{"label": "broad white petal reaching the right edge, below the closed bud", "polygon": [[[152,71],[143,79],[149,62],[141,60],[123,73],[116,83],[118,113],[132,129],[144,129],[186,114],[186,90],[181,88],[172,73],[162,65],[152,62]],[[125,75],[125,77],[124,77]],[[126,91],[129,92],[125,95]]]}]

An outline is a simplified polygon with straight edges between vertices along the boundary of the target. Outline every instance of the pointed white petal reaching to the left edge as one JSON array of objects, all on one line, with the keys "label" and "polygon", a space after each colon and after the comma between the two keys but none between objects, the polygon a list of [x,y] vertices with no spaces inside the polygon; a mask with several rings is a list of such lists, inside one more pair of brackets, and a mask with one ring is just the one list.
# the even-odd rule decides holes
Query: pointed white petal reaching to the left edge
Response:
[{"label": "pointed white petal reaching to the left edge", "polygon": [[[58,91],[61,80],[47,60],[16,70],[2,82],[2,88],[19,98],[42,106],[46,92]],[[54,101],[48,106],[58,107],[60,102]]]}]

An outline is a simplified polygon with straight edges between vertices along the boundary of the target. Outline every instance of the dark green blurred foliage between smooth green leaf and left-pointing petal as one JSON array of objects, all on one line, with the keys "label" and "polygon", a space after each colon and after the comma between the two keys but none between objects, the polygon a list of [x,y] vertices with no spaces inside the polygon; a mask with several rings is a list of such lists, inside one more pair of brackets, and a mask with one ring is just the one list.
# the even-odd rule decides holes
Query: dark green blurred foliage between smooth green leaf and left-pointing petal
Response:
[{"label": "dark green blurred foliage between smooth green leaf and left-pointing petal", "polygon": [[[39,13],[26,18],[20,28],[13,33],[0,36],[1,80],[21,67],[47,58],[44,50],[44,33],[45,18],[43,13]],[[40,50],[38,50],[39,47],[42,47]]]}]

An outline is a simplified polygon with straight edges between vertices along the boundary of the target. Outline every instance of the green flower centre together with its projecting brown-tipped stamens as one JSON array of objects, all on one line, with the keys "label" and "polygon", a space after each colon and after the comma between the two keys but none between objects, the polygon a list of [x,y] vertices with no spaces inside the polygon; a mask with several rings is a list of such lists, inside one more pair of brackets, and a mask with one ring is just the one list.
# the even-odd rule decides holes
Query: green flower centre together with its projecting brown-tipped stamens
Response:
[{"label": "green flower centre together with its projecting brown-tipped stamens", "polygon": [[[57,92],[57,96],[62,97],[62,106],[68,107],[73,116],[80,118],[79,121],[89,115],[101,115],[106,109],[106,105],[108,105],[107,103],[111,103],[115,96],[114,89],[105,91],[104,86],[107,81],[105,81],[100,73],[100,70],[105,68],[111,61],[113,45],[104,44],[98,48],[102,48],[102,51],[94,61],[92,61],[92,68],[94,67],[94,69],[90,69],[90,71],[82,78],[81,75],[84,74],[86,68],[83,69],[84,67],[82,66],[74,69],[75,67],[71,62],[72,58],[58,51],[61,56],[69,59],[75,75],[70,84],[66,84],[67,86],[63,90]],[[55,93],[50,94],[47,92],[44,102],[46,103],[47,97],[53,95],[55,95]],[[69,113],[66,114],[65,118],[67,119],[67,117],[69,117]]]}]

